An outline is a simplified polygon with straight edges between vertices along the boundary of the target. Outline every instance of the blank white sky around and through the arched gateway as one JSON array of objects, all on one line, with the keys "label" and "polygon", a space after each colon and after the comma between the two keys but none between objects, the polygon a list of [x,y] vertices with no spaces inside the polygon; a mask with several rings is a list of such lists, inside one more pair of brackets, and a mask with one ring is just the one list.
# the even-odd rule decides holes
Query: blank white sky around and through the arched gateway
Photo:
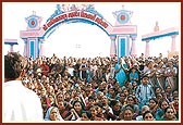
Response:
[{"label": "blank white sky around and through the arched gateway", "polygon": [[[59,2],[61,4],[61,2]],[[66,3],[69,4],[69,3]],[[81,4],[81,3],[75,3]],[[151,33],[158,21],[160,30],[181,27],[181,2],[121,2],[117,3],[93,3],[95,10],[103,15],[105,20],[114,25],[115,18],[112,12],[122,10],[132,11],[132,25],[137,25],[136,52],[137,55],[145,52],[145,41],[142,41],[142,35]],[[36,12],[36,15],[42,17],[41,25],[54,12],[57,2],[49,3],[23,3],[23,2],[3,2],[2,3],[2,38],[17,39],[19,46],[14,46],[14,51],[23,53],[24,41],[20,38],[20,30],[26,30],[25,17]],[[180,28],[181,32],[181,28]],[[181,34],[181,33],[180,33]],[[176,50],[180,51],[181,35],[176,40]],[[3,41],[2,39],[2,41]],[[171,48],[171,37],[164,37],[150,41],[150,55],[158,55],[160,52],[166,57]],[[45,41],[45,55],[51,57],[56,53],[58,57],[109,57],[111,40],[107,34],[98,26],[85,23],[74,23],[61,25]],[[2,42],[3,54],[9,50],[9,46]]]}]

